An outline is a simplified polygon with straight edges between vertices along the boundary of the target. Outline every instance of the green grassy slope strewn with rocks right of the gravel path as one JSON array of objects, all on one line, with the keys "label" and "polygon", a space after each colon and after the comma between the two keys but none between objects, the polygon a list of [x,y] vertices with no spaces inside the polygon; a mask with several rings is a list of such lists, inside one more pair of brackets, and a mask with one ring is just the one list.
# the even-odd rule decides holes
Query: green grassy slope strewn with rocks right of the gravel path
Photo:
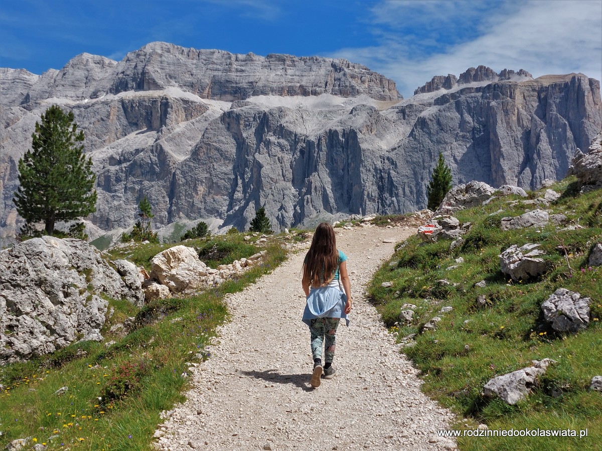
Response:
[{"label": "green grassy slope strewn with rocks right of the gravel path", "polygon": [[[552,187],[562,197],[550,205],[571,224],[584,229],[560,230],[553,224],[540,229],[504,231],[500,219],[518,216],[536,206],[517,197],[462,210],[456,217],[472,222],[461,248],[450,251],[450,241],[423,244],[416,237],[397,247],[389,262],[374,275],[370,295],[383,321],[402,338],[415,333],[415,345],[403,348],[423,373],[423,390],[451,408],[474,428],[588,429],[588,437],[462,437],[463,450],[600,449],[602,396],[588,391],[593,376],[602,374],[602,268],[586,265],[592,246],[602,240],[602,190],[579,194],[574,179]],[[542,195],[530,193],[530,198]],[[517,201],[509,206],[509,201]],[[503,213],[496,213],[503,209]],[[492,214],[493,213],[493,214]],[[538,280],[513,282],[502,274],[498,254],[511,244],[540,244],[547,254],[547,272]],[[464,263],[456,263],[462,257]],[[457,268],[448,269],[457,265]],[[445,279],[450,284],[438,283]],[[485,287],[475,284],[485,280]],[[383,288],[383,281],[393,286]],[[541,303],[563,287],[592,299],[591,322],[580,333],[557,333],[541,313]],[[485,296],[480,306],[478,296]],[[410,324],[400,324],[403,304],[417,308]],[[441,307],[451,306],[448,313]],[[434,316],[437,330],[422,332]],[[550,366],[532,394],[518,405],[484,399],[489,379],[551,358]]]}]

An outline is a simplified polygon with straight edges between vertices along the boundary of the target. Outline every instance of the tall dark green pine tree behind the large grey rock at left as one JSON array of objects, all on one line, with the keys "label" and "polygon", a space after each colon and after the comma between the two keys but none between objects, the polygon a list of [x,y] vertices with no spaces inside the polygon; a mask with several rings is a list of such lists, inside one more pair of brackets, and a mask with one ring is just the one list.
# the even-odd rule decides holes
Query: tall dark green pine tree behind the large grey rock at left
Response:
[{"label": "tall dark green pine tree behind the large grey rock at left", "polygon": [[45,222],[48,235],[55,222],[70,221],[96,211],[96,176],[92,159],[85,158],[84,133],[73,123],[73,112],[65,114],[53,105],[42,114],[31,135],[31,150],[19,159],[20,186],[13,203],[25,219],[23,230]]}]

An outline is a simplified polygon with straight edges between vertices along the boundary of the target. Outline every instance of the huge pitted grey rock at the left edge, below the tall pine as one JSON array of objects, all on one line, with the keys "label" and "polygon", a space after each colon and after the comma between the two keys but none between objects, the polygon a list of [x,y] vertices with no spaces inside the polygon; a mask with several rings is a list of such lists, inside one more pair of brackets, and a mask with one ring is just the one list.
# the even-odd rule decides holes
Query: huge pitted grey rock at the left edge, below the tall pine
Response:
[{"label": "huge pitted grey rock at the left edge, below the tall pine", "polygon": [[0,252],[0,363],[25,360],[78,339],[99,339],[105,293],[137,299],[98,250],[45,236]]}]

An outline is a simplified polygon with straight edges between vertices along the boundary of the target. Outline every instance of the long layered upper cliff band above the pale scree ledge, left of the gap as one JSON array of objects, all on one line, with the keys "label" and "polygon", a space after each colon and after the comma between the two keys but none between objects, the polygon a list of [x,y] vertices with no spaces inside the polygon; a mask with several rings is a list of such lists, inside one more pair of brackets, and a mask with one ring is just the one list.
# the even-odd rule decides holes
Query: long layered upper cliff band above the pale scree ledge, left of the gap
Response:
[{"label": "long layered upper cliff band above the pale scree ledge, left of the gap", "polygon": [[332,94],[398,100],[394,81],[342,58],[231,54],[153,42],[117,62],[81,54],[36,80],[20,103],[49,97],[84,100],[126,91],[179,88],[202,99]]}]

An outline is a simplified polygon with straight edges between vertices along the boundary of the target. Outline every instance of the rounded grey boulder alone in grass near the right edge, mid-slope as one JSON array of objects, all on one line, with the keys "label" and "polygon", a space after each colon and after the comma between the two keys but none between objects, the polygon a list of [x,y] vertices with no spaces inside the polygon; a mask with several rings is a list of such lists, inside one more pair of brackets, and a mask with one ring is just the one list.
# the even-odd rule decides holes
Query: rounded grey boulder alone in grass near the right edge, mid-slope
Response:
[{"label": "rounded grey boulder alone in grass near the right edge, mid-slope", "polygon": [[559,288],[541,304],[541,310],[554,330],[577,332],[588,327],[590,303],[580,293]]}]

